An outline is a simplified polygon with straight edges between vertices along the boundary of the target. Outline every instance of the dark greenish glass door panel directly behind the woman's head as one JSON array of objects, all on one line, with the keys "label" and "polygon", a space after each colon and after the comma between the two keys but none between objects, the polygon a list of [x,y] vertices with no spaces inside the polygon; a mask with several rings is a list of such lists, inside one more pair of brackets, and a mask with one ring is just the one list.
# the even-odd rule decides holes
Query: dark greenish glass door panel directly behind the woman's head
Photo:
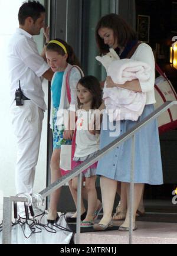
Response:
[{"label": "dark greenish glass door panel directly behind the woman's head", "polygon": [[85,74],[104,80],[106,72],[95,57],[99,54],[95,40],[97,22],[106,14],[116,13],[118,2],[114,0],[83,0],[81,63]]}]

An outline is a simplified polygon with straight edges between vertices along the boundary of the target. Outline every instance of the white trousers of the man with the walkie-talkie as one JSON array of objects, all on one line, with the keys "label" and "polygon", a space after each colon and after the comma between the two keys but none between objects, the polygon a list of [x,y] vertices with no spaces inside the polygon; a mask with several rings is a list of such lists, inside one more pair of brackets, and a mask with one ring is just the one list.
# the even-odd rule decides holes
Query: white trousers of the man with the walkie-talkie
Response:
[{"label": "white trousers of the man with the walkie-talkie", "polygon": [[17,193],[32,193],[44,112],[31,101],[24,101],[23,106],[16,106],[14,101],[11,115],[17,137],[15,186]]}]

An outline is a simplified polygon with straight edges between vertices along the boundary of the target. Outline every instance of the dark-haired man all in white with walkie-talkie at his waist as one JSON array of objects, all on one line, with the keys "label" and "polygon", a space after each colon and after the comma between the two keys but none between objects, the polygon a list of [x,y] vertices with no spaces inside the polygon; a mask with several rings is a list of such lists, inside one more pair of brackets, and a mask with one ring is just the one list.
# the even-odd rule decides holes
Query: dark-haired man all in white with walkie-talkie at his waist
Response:
[{"label": "dark-haired man all in white with walkie-talkie at his waist", "polygon": [[[32,193],[35,166],[40,148],[42,119],[46,105],[42,77],[51,81],[53,72],[40,56],[33,35],[44,27],[45,8],[37,1],[25,2],[19,8],[19,28],[8,48],[9,77],[11,82],[12,125],[17,137],[17,166],[15,185],[17,193]],[[23,105],[18,106],[15,92],[23,93]]]}]

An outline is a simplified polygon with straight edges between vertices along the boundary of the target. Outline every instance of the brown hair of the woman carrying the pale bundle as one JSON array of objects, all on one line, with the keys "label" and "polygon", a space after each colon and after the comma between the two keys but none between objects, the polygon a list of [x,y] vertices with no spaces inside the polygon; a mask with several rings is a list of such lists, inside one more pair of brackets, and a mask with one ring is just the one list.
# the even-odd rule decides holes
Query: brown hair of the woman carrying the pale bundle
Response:
[{"label": "brown hair of the woman carrying the pale bundle", "polygon": [[117,38],[117,43],[120,47],[125,47],[129,41],[137,40],[137,34],[126,21],[117,14],[108,14],[103,16],[96,26],[96,42],[100,49],[100,54],[109,52],[109,46],[104,44],[104,40],[99,35],[100,28],[111,28],[114,33],[114,38]]}]

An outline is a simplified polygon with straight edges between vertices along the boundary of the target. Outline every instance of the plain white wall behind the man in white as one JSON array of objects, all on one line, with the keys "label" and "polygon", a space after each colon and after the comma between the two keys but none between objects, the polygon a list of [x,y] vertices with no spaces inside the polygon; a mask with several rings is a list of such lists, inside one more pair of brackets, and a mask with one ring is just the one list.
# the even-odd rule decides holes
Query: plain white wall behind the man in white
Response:
[{"label": "plain white wall behind the man in white", "polygon": [[[0,209],[2,208],[2,196],[15,195],[15,161],[16,142],[14,132],[9,119],[9,80],[6,63],[6,46],[9,38],[18,27],[18,9],[24,0],[0,0]],[[42,48],[42,33],[35,38],[39,43],[38,48]],[[48,99],[48,86],[45,80],[43,86],[45,92],[45,102]],[[47,111],[42,128],[40,155],[35,175],[34,192],[40,192],[46,183],[46,163],[47,163]]]}]

